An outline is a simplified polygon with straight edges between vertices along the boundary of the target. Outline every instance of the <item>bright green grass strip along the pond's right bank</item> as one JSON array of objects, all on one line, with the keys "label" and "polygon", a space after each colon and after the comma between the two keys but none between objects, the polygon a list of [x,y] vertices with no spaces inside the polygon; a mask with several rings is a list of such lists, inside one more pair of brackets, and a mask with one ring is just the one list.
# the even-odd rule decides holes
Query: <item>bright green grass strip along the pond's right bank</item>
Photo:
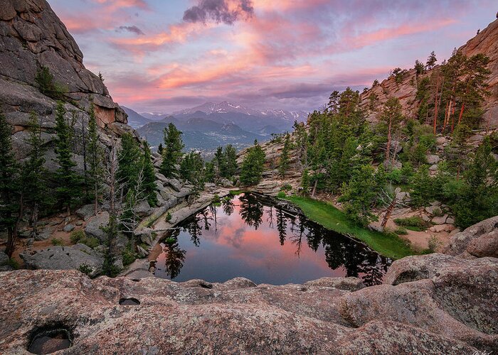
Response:
[{"label": "bright green grass strip along the pond's right bank", "polygon": [[396,236],[396,234],[383,234],[359,226],[348,219],[344,212],[331,204],[297,196],[286,197],[285,200],[289,200],[300,207],[306,217],[314,222],[341,234],[354,236],[383,256],[399,259],[416,254],[407,242]]}]

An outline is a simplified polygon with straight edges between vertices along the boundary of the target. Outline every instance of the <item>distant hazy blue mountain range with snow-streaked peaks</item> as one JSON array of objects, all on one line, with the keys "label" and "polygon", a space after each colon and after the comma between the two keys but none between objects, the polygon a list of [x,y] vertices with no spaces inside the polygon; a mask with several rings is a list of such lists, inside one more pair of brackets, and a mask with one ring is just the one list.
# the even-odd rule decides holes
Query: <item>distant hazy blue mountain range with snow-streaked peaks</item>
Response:
[{"label": "distant hazy blue mountain range with snow-streaked peaks", "polygon": [[128,114],[129,125],[137,129],[153,149],[162,142],[164,128],[171,122],[183,132],[186,151],[198,150],[206,157],[218,146],[232,144],[241,149],[250,146],[255,139],[267,141],[272,133],[291,131],[294,121],[307,119],[304,111],[262,111],[230,102],[206,102],[172,114],[139,114],[127,107],[123,109]]}]

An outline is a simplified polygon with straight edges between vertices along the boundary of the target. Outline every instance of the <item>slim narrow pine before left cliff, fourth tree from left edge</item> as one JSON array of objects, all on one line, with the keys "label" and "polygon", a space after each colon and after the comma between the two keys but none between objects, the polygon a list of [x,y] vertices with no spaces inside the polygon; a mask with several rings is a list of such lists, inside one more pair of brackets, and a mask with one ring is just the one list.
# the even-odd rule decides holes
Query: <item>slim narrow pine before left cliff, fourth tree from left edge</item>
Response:
[{"label": "slim narrow pine before left cliff, fourth tree from left edge", "polygon": [[104,174],[104,162],[102,156],[104,150],[100,147],[97,131],[97,120],[95,119],[95,108],[90,104],[90,119],[88,120],[88,162],[90,163],[90,185],[93,190],[94,214],[97,215],[99,197],[102,190],[102,178]]}]

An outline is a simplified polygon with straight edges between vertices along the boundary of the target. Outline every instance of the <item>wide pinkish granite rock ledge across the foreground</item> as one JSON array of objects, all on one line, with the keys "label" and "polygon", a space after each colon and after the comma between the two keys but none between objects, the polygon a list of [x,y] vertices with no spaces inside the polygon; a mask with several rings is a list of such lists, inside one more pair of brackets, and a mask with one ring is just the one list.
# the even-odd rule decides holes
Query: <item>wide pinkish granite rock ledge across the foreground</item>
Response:
[{"label": "wide pinkish granite rock ledge across the foreground", "polygon": [[[482,258],[484,259],[484,258]],[[362,288],[354,278],[255,285],[0,273],[0,353],[39,327],[74,336],[63,354],[472,354],[498,348],[498,259],[452,261],[425,278]],[[139,305],[120,305],[134,297]]]}]

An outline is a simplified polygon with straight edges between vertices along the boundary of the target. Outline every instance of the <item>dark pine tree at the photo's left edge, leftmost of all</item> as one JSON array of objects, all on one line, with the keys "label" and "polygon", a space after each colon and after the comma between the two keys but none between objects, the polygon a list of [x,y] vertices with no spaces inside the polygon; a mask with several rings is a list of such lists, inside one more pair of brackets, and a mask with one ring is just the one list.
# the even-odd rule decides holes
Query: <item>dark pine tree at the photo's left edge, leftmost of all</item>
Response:
[{"label": "dark pine tree at the photo's left edge, leftmost of all", "polygon": [[7,229],[5,253],[10,257],[16,243],[18,212],[18,164],[12,150],[12,128],[0,114],[0,225]]}]

